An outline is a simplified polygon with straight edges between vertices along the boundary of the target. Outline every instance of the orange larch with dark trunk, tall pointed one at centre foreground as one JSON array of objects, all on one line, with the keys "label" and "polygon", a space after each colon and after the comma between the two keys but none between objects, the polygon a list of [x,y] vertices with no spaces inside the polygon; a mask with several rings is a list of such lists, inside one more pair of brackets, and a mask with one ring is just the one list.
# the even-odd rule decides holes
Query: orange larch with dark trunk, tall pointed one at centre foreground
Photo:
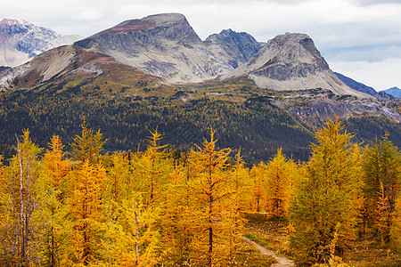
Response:
[{"label": "orange larch with dark trunk, tall pointed one at centre foreground", "polygon": [[197,232],[192,246],[199,265],[222,266],[230,256],[229,196],[233,190],[227,188],[226,168],[230,149],[217,150],[214,131],[210,130],[210,141],[204,139],[202,147],[192,153],[191,164],[195,169],[190,184],[195,205],[192,212]]}]

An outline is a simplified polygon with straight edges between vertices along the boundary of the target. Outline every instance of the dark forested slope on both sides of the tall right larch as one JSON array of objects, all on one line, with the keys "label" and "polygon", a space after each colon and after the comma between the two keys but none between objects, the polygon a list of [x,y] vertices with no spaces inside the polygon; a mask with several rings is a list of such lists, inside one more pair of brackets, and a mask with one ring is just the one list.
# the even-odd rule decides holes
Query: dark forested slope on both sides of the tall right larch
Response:
[{"label": "dark forested slope on both sides of the tall right larch", "polygon": [[[278,148],[295,160],[305,161],[313,141],[311,125],[274,106],[271,97],[259,96],[268,91],[241,84],[225,85],[225,92],[236,93],[233,97],[202,88],[169,89],[166,95],[163,91],[147,93],[145,86],[143,96],[134,96],[130,92],[137,89],[119,86],[111,92],[107,84],[99,87],[95,82],[91,86],[50,85],[41,90],[0,93],[0,151],[5,158],[11,157],[15,134],[23,129],[29,128],[31,138],[42,147],[53,134],[68,144],[79,133],[83,117],[94,129],[102,129],[108,140],[105,151],[144,150],[143,141],[156,127],[170,148],[178,151],[200,143],[201,136],[213,127],[219,146],[231,147],[234,152],[241,148],[249,163],[271,158]],[[192,98],[182,101],[187,95]],[[356,142],[372,141],[387,131],[389,140],[401,144],[400,125],[389,118],[350,117],[345,124],[357,133]]]}]

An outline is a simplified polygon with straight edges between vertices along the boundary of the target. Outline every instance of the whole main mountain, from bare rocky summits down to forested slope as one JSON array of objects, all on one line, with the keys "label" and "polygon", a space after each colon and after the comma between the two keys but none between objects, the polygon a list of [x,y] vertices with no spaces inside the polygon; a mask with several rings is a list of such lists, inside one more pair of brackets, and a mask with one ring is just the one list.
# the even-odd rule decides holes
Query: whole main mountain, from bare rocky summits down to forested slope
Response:
[{"label": "whole main mountain, from bare rocky summits down to forested slope", "polygon": [[[59,46],[20,66],[1,67],[0,154],[12,156],[15,134],[25,128],[42,147],[53,134],[68,144],[80,133],[83,116],[109,139],[109,151],[144,148],[149,130],[157,127],[172,149],[190,150],[212,127],[218,145],[234,152],[242,148],[247,162],[268,160],[280,147],[306,160],[314,129],[333,116],[356,133],[356,142],[387,131],[401,145],[401,101],[384,93],[381,101],[344,85],[310,37],[276,36],[251,56],[251,50],[240,49],[252,44],[250,36],[239,35],[226,30],[203,42],[183,15],[160,14],[127,20],[78,42],[80,46]],[[238,73],[232,75],[234,69],[231,77],[219,79],[233,69],[226,61],[227,47],[236,51],[233,61],[251,58]],[[154,69],[158,66],[160,72]],[[210,66],[225,69],[207,75]],[[168,76],[168,68],[176,74]],[[193,75],[196,68],[203,68],[201,77]],[[185,73],[192,82],[196,77],[209,80],[168,83]]]}]

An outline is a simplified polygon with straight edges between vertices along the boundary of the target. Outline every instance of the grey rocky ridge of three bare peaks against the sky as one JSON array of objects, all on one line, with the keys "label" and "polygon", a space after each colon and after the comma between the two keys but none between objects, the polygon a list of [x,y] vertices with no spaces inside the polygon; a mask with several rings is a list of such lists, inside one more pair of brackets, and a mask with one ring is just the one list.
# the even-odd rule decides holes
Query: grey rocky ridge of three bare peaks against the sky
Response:
[{"label": "grey rocky ridge of three bare peaks against the sky", "polygon": [[274,90],[320,87],[367,97],[333,75],[305,34],[275,36],[262,47],[253,36],[226,29],[202,41],[183,14],[162,13],[123,21],[74,44],[172,84],[244,75]]}]

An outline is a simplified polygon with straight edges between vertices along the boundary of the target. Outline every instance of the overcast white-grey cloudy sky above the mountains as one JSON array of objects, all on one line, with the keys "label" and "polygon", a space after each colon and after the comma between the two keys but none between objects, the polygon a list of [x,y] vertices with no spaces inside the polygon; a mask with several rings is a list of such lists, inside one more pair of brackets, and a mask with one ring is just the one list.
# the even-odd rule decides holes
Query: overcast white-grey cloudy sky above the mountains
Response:
[{"label": "overcast white-grey cloudy sky above the mountains", "polygon": [[20,0],[0,17],[90,36],[123,20],[180,12],[205,39],[222,29],[266,42],[285,32],[311,36],[332,70],[376,90],[401,88],[401,0]]}]

